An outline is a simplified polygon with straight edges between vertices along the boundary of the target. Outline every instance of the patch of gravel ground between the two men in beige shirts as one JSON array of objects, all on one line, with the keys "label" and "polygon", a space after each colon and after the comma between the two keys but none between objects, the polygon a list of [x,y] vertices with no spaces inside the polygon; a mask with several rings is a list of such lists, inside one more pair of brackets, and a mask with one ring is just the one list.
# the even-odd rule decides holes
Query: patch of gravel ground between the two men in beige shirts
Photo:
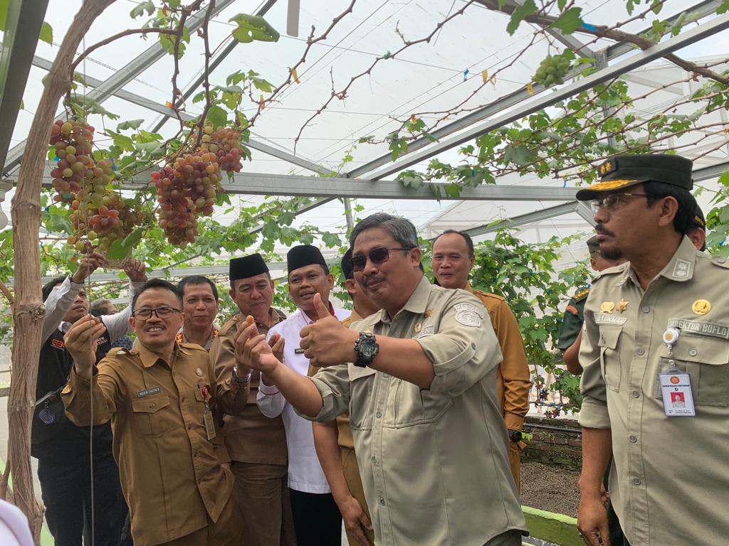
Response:
[{"label": "patch of gravel ground between the two men in beige shirts", "polygon": [[577,518],[579,472],[539,462],[521,464],[521,504]]}]

